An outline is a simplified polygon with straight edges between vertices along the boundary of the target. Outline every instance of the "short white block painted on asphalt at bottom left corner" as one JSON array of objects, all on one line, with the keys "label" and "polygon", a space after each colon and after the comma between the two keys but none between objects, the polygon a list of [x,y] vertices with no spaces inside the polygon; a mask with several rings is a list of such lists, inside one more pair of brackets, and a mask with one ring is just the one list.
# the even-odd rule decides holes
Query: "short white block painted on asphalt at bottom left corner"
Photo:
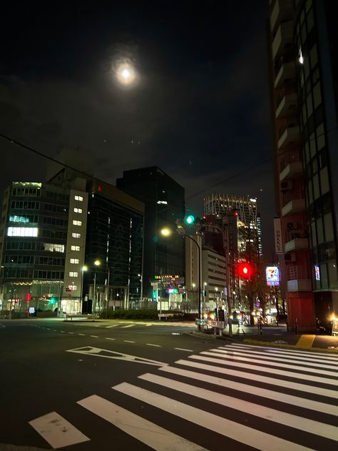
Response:
[{"label": "short white block painted on asphalt at bottom left corner", "polygon": [[53,448],[88,442],[89,439],[57,412],[50,412],[42,417],[29,421],[31,427]]}]

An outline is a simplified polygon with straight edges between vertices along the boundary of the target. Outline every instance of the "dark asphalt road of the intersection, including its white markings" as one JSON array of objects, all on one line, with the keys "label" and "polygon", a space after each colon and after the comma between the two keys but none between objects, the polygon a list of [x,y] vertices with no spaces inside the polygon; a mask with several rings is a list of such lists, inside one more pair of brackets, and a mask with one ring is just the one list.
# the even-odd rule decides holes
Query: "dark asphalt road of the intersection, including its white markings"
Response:
[{"label": "dark asphalt road of the intersection, including its white markings", "polygon": [[194,328],[2,321],[0,450],[336,449],[337,355]]}]

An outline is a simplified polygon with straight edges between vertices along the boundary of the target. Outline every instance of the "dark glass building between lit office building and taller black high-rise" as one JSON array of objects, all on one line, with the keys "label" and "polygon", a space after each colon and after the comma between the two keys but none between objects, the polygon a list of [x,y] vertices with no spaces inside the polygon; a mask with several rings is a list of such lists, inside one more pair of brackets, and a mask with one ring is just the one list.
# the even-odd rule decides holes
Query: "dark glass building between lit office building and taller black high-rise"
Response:
[{"label": "dark glass building between lit office building and taller black high-rise", "polygon": [[[134,307],[140,301],[143,210],[143,203],[115,186],[88,182],[85,258],[88,270],[84,273],[84,294],[91,302],[96,277],[98,308],[104,306],[106,300],[125,308]],[[97,267],[96,260],[100,263]],[[84,308],[86,310],[86,304]]]}]

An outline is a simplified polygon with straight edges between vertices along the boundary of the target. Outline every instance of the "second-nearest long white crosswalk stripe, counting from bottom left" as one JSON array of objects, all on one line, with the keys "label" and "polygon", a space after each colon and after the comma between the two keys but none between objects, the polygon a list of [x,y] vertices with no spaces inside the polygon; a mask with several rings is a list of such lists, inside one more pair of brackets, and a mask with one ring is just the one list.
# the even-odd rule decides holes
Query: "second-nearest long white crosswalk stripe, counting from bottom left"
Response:
[{"label": "second-nearest long white crosswalk stripe, counting from bottom left", "polygon": [[261,432],[241,425],[227,418],[219,417],[210,412],[201,412],[200,409],[184,404],[178,400],[172,400],[170,397],[158,395],[158,393],[150,392],[144,388],[136,387],[128,382],[113,387],[125,395],[134,397],[137,400],[146,402],[147,404],[158,407],[165,412],[169,412],[177,417],[184,418],[190,422],[200,425],[209,430],[217,432],[225,437],[230,437],[237,442],[245,443],[245,445],[260,449],[261,451],[309,451],[310,448],[297,443],[289,442],[280,437]]}]

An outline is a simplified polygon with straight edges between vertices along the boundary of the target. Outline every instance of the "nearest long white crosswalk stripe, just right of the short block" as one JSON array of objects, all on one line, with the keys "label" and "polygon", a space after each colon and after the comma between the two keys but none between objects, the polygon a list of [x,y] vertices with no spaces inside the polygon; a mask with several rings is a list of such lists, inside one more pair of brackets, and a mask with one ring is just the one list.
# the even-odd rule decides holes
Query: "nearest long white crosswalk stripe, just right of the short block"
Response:
[{"label": "nearest long white crosswalk stripe, just right of the short block", "polygon": [[[203,451],[205,448],[173,434],[145,418],[129,412],[98,395],[78,401],[78,404],[126,432],[148,447],[158,451]],[[206,451],[206,450],[205,450]]]}]

